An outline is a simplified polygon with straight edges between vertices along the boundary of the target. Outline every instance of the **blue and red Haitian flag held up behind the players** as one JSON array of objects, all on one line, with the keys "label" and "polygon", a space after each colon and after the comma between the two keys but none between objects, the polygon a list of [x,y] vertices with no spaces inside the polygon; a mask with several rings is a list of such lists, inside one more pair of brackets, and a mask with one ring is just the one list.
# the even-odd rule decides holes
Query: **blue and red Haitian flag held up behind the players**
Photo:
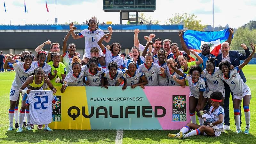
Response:
[{"label": "blue and red Haitian flag held up behind the players", "polygon": [[208,44],[211,48],[211,53],[215,56],[218,56],[218,54],[221,52],[221,43],[225,42],[228,39],[228,29],[229,28],[220,31],[205,32],[196,30],[186,30],[184,32],[183,38],[186,45],[188,46],[188,49],[200,53],[202,45]]}]

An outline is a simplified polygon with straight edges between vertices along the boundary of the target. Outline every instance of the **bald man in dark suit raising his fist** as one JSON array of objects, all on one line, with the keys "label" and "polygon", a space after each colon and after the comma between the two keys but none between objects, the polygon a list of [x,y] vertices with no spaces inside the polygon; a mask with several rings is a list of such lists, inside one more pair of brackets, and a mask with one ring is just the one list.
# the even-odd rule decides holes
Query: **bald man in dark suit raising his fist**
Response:
[{"label": "bald man in dark suit raising his fist", "polygon": [[[245,60],[247,57],[249,57],[250,55],[250,51],[249,48],[246,47],[245,44],[241,44],[241,47],[244,48],[244,51],[246,53],[246,55],[239,53],[237,51],[230,51],[230,46],[228,44],[228,42],[223,42],[221,44],[221,54],[219,54],[217,56],[217,65],[219,65],[219,63],[221,61],[229,61],[234,67],[239,66],[240,65],[240,60]],[[241,76],[241,78],[243,79],[244,83],[246,82],[246,78],[244,76],[244,73],[242,71],[242,69],[239,72],[239,75]],[[230,123],[229,123],[229,96],[230,93],[232,95],[232,101],[233,101],[233,93],[231,92],[229,86],[227,83],[224,82],[224,86],[225,86],[225,101],[224,101],[224,114],[225,114],[225,118],[224,118],[224,130],[230,130]],[[241,119],[241,109],[240,109],[240,119]],[[241,122],[241,120],[240,120]]]}]

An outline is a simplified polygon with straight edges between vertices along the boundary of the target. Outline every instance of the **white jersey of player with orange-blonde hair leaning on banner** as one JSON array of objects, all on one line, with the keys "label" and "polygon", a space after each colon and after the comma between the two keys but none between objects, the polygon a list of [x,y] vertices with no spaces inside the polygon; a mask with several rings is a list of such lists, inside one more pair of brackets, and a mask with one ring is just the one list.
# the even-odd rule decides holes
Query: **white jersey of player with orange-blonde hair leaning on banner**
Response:
[{"label": "white jersey of player with orange-blonde hair leaning on banner", "polygon": [[87,69],[86,65],[81,67],[81,72],[78,76],[74,75],[73,70],[71,70],[68,75],[65,77],[63,81],[63,85],[66,86],[83,86],[83,78],[84,78],[84,72]]}]

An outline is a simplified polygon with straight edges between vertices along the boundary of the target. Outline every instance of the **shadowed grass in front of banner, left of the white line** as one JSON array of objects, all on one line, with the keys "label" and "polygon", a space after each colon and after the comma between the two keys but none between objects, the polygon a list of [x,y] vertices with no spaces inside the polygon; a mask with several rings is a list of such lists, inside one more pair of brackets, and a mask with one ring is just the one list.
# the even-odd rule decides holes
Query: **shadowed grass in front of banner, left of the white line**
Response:
[{"label": "shadowed grass in front of banner, left of the white line", "polygon": [[15,143],[37,143],[47,141],[47,143],[55,141],[61,141],[61,143],[115,143],[116,130],[54,130],[53,132],[34,130],[23,131],[22,133],[17,133],[13,130],[7,131],[5,135],[7,138],[1,138],[0,141],[14,141]]}]

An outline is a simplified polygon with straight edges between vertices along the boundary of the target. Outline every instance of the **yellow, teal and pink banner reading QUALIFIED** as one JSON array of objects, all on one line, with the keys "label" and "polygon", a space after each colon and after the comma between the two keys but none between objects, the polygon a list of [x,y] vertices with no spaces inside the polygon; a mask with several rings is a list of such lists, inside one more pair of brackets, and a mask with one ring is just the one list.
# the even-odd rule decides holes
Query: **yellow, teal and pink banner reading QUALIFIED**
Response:
[{"label": "yellow, teal and pink banner reading QUALIFIED", "polygon": [[175,130],[190,122],[189,88],[57,88],[52,129]]}]

